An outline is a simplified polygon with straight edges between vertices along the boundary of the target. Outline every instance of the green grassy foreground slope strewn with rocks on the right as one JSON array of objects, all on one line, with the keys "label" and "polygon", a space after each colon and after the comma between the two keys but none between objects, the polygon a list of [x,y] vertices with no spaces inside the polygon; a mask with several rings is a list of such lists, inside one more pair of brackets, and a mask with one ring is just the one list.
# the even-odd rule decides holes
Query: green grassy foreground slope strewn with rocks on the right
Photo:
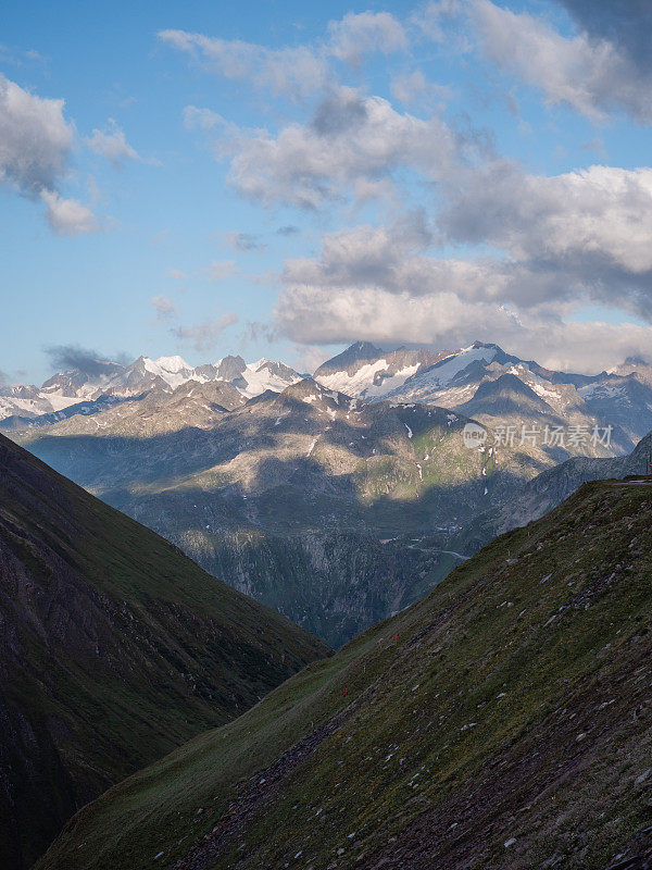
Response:
[{"label": "green grassy foreground slope strewn with rocks on the right", "polygon": [[606,867],[652,820],[651,517],[652,487],[582,486],[112,788],[38,870]]}]

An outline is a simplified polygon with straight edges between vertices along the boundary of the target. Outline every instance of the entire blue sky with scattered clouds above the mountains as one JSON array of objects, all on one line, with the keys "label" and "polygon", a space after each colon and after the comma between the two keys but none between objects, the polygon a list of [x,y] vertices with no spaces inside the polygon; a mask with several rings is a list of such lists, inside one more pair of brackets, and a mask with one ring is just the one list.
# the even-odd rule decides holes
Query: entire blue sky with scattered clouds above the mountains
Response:
[{"label": "entire blue sky with scattered clouds above the mountains", "polygon": [[7,4],[0,383],[85,355],[652,360],[652,4]]}]

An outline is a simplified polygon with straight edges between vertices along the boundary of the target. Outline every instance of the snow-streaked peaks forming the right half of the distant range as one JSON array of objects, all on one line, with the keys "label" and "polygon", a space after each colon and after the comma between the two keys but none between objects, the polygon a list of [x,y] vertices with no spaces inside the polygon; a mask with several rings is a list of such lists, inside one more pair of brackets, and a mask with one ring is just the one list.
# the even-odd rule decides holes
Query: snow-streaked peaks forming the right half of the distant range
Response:
[{"label": "snow-streaked peaks forming the right half of the distant range", "polygon": [[[518,422],[527,423],[531,414],[519,397],[528,396],[540,415],[565,425],[611,425],[614,452],[630,450],[652,428],[652,366],[642,360],[584,375],[551,371],[480,341],[452,352],[401,348],[388,353],[358,343],[314,377],[356,398],[435,403],[488,426],[518,414]],[[500,387],[514,397],[492,401]]]}]

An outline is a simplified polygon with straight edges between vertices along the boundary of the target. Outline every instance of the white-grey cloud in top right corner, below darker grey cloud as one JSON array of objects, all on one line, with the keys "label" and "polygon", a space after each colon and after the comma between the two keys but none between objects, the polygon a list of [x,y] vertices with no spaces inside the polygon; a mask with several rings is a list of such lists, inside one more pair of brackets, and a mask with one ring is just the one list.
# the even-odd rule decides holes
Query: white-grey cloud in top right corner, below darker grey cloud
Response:
[{"label": "white-grey cloud in top right corner, below darker grey cloud", "polygon": [[[582,23],[588,22],[588,3],[566,5],[578,13]],[[602,5],[591,3],[591,10]],[[562,36],[542,18],[512,12],[491,0],[468,0],[466,9],[485,55],[540,88],[549,103],[567,103],[598,121],[614,109],[623,109],[640,123],[649,124],[652,69],[635,61],[634,48],[629,53],[622,50],[622,30],[609,26],[620,14],[619,5],[617,13],[613,5],[613,14],[598,12],[597,20],[603,24],[592,26],[591,34],[584,30],[573,38]]]}]

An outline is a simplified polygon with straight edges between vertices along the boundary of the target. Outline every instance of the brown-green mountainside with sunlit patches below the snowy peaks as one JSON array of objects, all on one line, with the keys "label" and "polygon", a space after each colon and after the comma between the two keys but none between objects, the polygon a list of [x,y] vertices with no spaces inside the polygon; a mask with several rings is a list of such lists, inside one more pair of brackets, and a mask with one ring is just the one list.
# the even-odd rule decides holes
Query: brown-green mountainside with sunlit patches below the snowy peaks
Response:
[{"label": "brown-green mountainside with sunlit patches below the snowy peaks", "polygon": [[459,561],[450,531],[549,461],[516,449],[497,464],[464,446],[461,414],[310,378],[230,413],[195,391],[168,397],[174,414],[120,405],[23,443],[333,646],[423,596]]}]

